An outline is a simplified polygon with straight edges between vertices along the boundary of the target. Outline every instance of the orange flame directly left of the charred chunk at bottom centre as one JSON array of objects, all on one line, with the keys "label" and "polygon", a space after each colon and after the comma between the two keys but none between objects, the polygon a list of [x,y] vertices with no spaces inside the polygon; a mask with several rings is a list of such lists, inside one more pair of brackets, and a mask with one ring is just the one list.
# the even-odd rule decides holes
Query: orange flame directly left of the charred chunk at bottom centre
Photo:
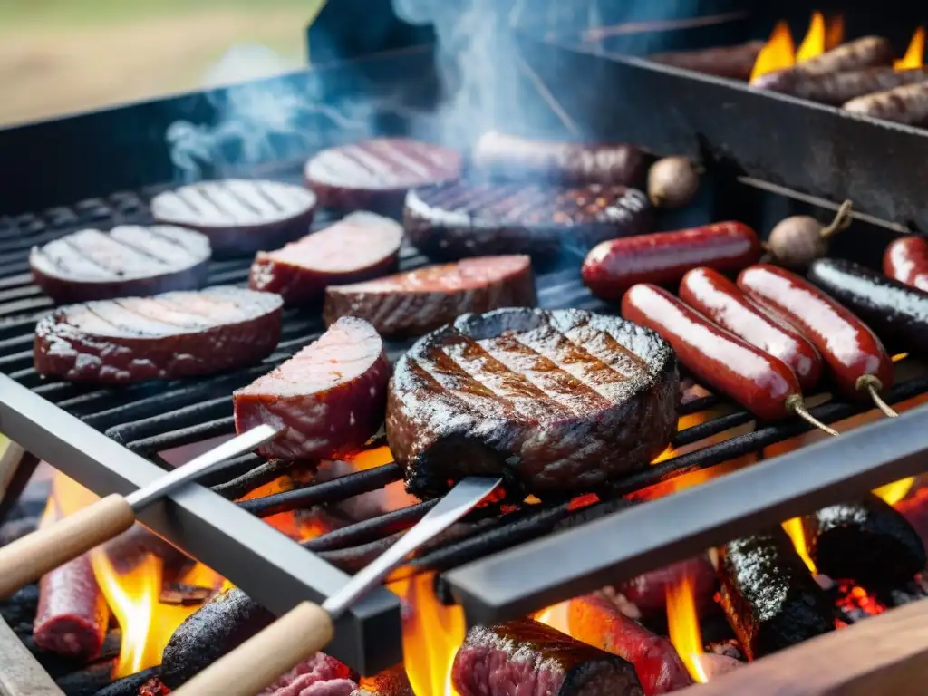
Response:
[{"label": "orange flame directly left of the charred chunk at bottom centre", "polygon": [[451,683],[451,666],[467,632],[464,611],[438,601],[432,582],[432,574],[419,574],[389,586],[406,599],[408,608],[403,620],[406,677],[415,693],[459,696]]}]

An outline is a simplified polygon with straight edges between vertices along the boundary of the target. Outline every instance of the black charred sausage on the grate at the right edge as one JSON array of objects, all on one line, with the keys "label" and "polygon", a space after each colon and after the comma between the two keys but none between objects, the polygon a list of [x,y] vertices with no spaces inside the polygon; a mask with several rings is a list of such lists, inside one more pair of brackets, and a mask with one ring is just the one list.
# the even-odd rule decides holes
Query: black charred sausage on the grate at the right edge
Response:
[{"label": "black charred sausage on the grate at the right edge", "polygon": [[928,292],[838,259],[820,259],[808,277],[894,348],[922,351],[928,344]]}]

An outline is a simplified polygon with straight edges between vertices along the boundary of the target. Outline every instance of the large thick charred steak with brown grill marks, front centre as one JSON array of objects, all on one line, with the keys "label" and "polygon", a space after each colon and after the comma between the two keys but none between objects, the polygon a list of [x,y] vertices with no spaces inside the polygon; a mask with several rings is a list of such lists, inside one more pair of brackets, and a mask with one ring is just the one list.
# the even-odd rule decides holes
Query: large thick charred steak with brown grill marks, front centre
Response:
[{"label": "large thick charred steak with brown grill marks, front centre", "polygon": [[396,364],[387,440],[420,498],[491,473],[566,496],[648,467],[676,429],[678,381],[670,346],[618,317],[464,315]]}]

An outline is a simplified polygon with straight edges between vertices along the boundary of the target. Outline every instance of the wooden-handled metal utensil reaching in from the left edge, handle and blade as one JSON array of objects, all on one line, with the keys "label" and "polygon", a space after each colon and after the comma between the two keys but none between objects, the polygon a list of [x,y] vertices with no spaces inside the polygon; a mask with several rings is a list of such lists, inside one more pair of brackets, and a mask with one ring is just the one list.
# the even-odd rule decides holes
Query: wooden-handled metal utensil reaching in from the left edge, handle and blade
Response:
[{"label": "wooden-handled metal utensil reaching in from the left edge, handle and blade", "polygon": [[0,598],[9,597],[59,565],[121,535],[135,523],[139,510],[196,480],[226,459],[264,445],[276,435],[277,431],[268,425],[252,428],[135,493],[124,497],[115,493],[106,496],[60,522],[0,548]]}]

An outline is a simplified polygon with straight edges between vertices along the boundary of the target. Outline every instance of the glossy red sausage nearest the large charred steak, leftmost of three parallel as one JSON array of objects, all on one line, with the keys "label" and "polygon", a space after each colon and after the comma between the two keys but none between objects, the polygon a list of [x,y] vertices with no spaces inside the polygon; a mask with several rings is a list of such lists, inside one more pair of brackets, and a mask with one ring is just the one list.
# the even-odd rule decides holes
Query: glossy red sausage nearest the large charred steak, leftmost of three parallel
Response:
[{"label": "glossy red sausage nearest the large charred steak, leftmost of three parallel", "polygon": [[659,333],[697,380],[757,417],[792,415],[790,397],[800,394],[793,370],[719,329],[666,290],[648,284],[632,287],[622,299],[622,316]]}]

